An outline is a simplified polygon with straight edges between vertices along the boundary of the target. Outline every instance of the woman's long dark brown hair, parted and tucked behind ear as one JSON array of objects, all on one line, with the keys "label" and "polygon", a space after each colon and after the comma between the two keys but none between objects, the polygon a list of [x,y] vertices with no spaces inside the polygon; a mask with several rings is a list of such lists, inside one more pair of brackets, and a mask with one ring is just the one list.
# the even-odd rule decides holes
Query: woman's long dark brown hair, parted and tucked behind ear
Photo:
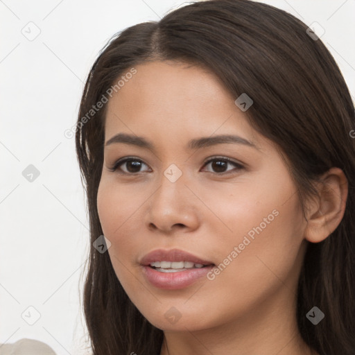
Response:
[{"label": "woman's long dark brown hair, parted and tucked behind ear", "polygon": [[[215,73],[235,98],[254,101],[250,124],[288,158],[300,201],[313,182],[341,168],[349,183],[345,215],[321,243],[309,243],[297,294],[304,341],[321,355],[355,354],[354,103],[334,58],[292,15],[250,0],[191,3],[116,34],[87,78],[78,114],[76,149],[87,193],[91,244],[103,234],[96,196],[103,168],[105,107],[87,113],[117,80],[140,63],[177,60]],[[116,87],[118,89],[118,87]],[[115,90],[116,91],[116,90]],[[83,119],[84,117],[87,119]],[[90,249],[84,311],[96,355],[159,354],[163,331],[130,301],[110,256]],[[325,318],[313,325],[306,313]]]}]

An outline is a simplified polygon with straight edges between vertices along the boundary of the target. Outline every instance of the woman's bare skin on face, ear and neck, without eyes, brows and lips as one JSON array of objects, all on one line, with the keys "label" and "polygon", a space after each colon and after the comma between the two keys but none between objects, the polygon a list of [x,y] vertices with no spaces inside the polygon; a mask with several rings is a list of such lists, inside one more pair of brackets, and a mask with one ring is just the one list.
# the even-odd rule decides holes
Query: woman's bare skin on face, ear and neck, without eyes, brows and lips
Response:
[{"label": "woman's bare skin on face, ear and neck, without eyes, brows and lips", "polygon": [[[107,103],[105,141],[125,132],[145,137],[155,149],[106,146],[97,204],[119,281],[164,331],[161,354],[312,354],[297,329],[297,281],[307,243],[327,238],[343,218],[343,172],[324,174],[327,185],[319,185],[320,198],[309,200],[307,223],[275,144],[252,129],[213,73],[160,61],[136,69]],[[190,139],[223,134],[239,135],[258,149],[235,143],[186,148]],[[243,168],[204,164],[216,156]],[[124,163],[110,171],[121,157],[144,163],[140,170]],[[182,171],[176,182],[164,175],[171,164]],[[139,260],[158,248],[222,263],[274,210],[278,216],[215,279],[162,290],[144,278]],[[175,324],[165,317],[172,306],[181,315]]]}]

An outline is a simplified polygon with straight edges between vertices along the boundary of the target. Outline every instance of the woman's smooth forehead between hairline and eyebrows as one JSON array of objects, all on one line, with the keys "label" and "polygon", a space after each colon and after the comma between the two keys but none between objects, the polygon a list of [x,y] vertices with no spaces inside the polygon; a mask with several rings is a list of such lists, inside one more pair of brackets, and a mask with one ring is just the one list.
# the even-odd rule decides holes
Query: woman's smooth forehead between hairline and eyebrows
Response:
[{"label": "woman's smooth forehead between hairline and eyebrows", "polygon": [[161,61],[135,69],[137,73],[107,103],[106,141],[118,132],[149,135],[153,140],[231,133],[256,140],[257,133],[214,73]]}]

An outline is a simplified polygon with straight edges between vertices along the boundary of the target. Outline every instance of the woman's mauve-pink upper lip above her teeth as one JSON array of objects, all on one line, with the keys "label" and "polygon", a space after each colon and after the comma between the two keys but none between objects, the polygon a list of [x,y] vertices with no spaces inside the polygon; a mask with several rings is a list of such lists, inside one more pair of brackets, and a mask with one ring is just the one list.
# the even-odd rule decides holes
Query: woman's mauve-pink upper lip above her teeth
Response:
[{"label": "woman's mauve-pink upper lip above her teeth", "polygon": [[193,263],[202,263],[202,265],[211,265],[211,261],[203,260],[196,257],[189,252],[184,252],[184,250],[172,249],[164,250],[158,249],[153,250],[146,254],[140,261],[141,265],[148,266],[150,263],[155,261],[191,261]]}]

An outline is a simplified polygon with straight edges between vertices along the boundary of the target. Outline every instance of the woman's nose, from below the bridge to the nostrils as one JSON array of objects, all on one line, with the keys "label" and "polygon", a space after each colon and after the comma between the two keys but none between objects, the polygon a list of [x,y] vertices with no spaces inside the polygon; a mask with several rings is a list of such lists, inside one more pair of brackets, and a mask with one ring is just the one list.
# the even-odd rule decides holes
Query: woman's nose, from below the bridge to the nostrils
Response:
[{"label": "woman's nose, from below the bridge to the nostrils", "polygon": [[[162,175],[160,185],[149,199],[146,225],[149,230],[172,234],[198,228],[198,198],[187,187],[184,174],[175,182]],[[201,209],[201,207],[200,207]]]}]

